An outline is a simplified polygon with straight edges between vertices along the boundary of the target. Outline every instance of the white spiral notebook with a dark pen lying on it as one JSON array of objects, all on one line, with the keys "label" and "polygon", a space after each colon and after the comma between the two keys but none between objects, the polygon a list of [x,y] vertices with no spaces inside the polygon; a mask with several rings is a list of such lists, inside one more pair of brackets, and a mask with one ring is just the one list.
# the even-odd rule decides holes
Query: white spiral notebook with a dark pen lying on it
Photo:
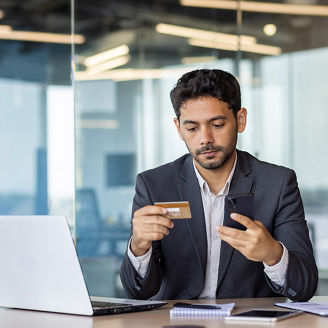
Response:
[{"label": "white spiral notebook with a dark pen lying on it", "polygon": [[175,303],[170,310],[170,316],[230,316],[235,303],[228,304],[200,304]]}]

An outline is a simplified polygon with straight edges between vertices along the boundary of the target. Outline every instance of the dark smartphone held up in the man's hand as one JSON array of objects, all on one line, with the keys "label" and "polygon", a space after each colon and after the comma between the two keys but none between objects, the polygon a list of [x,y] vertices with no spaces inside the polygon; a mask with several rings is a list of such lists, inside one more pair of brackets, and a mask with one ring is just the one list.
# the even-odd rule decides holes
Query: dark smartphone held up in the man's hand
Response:
[{"label": "dark smartphone held up in the man's hand", "polygon": [[238,213],[254,219],[254,194],[231,194],[224,199],[224,225],[239,230],[246,230],[243,225],[231,219],[231,213]]}]

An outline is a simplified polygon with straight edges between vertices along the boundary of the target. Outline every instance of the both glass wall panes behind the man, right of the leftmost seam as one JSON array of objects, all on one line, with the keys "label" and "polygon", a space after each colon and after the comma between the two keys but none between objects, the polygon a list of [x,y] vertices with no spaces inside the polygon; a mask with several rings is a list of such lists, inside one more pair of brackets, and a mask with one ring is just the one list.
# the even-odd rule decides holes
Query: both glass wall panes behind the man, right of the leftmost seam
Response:
[{"label": "both glass wall panes behind the man, right of the leftmost seam", "polygon": [[169,91],[182,73],[238,76],[239,148],[296,170],[327,291],[325,1],[76,0],[76,231],[91,291],[123,295],[135,175],[186,152]]}]

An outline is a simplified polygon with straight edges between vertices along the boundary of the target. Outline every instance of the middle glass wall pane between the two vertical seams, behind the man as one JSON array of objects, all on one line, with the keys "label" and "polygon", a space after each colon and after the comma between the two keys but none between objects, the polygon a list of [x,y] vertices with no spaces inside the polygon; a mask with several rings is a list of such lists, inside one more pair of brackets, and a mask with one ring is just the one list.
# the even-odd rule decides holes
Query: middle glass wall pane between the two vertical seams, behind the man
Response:
[{"label": "middle glass wall pane between the two vertical seams, behind the man", "polygon": [[169,92],[189,70],[237,69],[235,51],[191,44],[206,33],[236,46],[236,12],[178,1],[77,1],[75,26],[86,36],[75,48],[77,250],[91,293],[122,296],[136,174],[186,152]]}]

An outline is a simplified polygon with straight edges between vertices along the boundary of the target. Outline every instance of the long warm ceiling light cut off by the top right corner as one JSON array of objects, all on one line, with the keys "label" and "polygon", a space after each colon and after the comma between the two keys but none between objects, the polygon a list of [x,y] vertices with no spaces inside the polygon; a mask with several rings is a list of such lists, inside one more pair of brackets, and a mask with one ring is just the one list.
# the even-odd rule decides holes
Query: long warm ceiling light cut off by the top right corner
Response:
[{"label": "long warm ceiling light cut off by the top right corner", "polygon": [[273,2],[233,1],[233,0],[180,0],[180,4],[189,7],[230,9],[259,13],[328,16],[328,6],[295,5]]}]

